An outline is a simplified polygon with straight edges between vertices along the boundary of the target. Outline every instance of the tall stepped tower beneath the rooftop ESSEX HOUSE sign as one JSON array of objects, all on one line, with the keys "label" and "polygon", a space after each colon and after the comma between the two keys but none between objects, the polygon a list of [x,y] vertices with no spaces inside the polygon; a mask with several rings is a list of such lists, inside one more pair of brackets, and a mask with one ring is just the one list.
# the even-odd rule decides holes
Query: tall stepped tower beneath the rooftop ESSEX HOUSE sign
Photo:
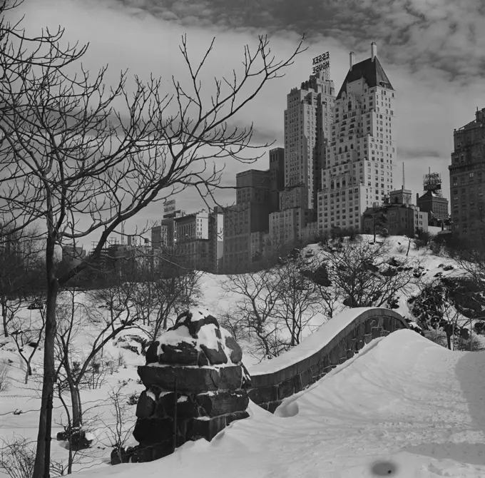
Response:
[{"label": "tall stepped tower beneath the rooftop ESSEX HOUSE sign", "polygon": [[334,114],[335,87],[319,71],[287,95],[285,110],[285,187],[300,186],[295,207],[317,208],[320,169]]}]

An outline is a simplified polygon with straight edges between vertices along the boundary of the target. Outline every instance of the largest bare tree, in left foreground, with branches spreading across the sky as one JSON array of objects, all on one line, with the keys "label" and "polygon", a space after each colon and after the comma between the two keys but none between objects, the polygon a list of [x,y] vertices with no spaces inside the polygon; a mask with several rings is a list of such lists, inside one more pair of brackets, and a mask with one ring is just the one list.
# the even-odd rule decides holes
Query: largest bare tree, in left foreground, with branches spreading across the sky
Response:
[{"label": "largest bare tree, in left foreground, with branches spreading across the sky", "polygon": [[[0,13],[6,8],[3,2]],[[123,221],[154,200],[188,187],[205,200],[220,186],[225,158],[255,161],[259,156],[248,161],[244,151],[269,145],[252,146],[252,128],[228,123],[302,51],[300,42],[288,59],[277,61],[267,37],[260,36],[255,50],[245,46],[242,74],[216,78],[211,94],[203,91],[201,74],[213,43],[195,63],[184,36],[180,52],[188,86],[173,78],[173,93],[160,93],[160,79],[135,77],[130,88],[126,72],[106,88],[106,68],[91,76],[78,66],[86,46],[65,47],[62,40],[62,29],[29,38],[1,15],[0,214],[14,230],[44,221],[46,244],[44,385],[34,478],[48,475],[49,468],[58,291],[96,262]],[[92,253],[57,275],[56,245],[75,246],[96,231]]]}]

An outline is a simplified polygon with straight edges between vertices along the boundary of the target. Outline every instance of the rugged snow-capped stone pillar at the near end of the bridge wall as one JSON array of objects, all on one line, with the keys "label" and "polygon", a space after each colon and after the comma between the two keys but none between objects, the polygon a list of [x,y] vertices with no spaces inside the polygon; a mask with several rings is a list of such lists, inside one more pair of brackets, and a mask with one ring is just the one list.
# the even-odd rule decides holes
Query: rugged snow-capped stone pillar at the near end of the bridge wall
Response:
[{"label": "rugged snow-capped stone pillar at the near end of the bridge wall", "polygon": [[149,462],[188,440],[210,441],[226,425],[248,417],[250,376],[241,360],[238,342],[213,315],[205,310],[179,315],[148,347],[146,365],[138,367],[146,387],[133,430],[139,445],[115,455]]}]

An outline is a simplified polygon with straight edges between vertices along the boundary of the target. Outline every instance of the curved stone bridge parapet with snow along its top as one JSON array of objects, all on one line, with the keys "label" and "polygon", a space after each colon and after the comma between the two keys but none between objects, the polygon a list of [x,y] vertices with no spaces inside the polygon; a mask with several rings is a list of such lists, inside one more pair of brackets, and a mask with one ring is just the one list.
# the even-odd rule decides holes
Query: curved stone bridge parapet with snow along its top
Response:
[{"label": "curved stone bridge parapet with snow along its top", "polygon": [[325,322],[300,345],[250,368],[250,399],[274,412],[283,399],[317,382],[337,365],[352,358],[371,340],[409,328],[394,310],[356,307]]}]

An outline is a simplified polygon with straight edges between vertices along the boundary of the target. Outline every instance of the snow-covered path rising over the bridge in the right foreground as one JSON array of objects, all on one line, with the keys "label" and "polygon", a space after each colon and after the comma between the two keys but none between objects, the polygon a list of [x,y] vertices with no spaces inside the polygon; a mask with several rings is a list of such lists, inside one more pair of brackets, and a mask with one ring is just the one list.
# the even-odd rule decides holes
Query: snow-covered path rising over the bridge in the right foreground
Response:
[{"label": "snow-covered path rising over the bridge in the right foreground", "polygon": [[[409,330],[374,340],[275,415],[251,406],[213,442],[82,476],[484,477],[485,352]],[[79,475],[81,476],[81,475]]]}]

